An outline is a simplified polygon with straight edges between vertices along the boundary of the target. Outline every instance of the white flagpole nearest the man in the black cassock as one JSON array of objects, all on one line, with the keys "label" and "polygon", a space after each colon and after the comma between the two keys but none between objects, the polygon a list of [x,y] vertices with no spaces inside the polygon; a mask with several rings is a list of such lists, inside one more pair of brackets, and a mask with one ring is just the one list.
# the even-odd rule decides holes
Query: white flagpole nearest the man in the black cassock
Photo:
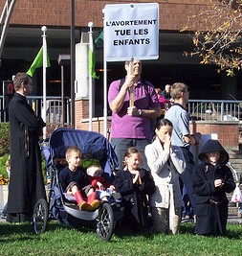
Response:
[{"label": "white flagpole nearest the man in the black cassock", "polygon": [[[42,119],[46,123],[46,62],[47,62],[47,45],[46,45],[46,36],[47,27],[43,26],[41,28],[43,32],[43,116]],[[46,128],[43,128],[43,139],[46,139]]]}]

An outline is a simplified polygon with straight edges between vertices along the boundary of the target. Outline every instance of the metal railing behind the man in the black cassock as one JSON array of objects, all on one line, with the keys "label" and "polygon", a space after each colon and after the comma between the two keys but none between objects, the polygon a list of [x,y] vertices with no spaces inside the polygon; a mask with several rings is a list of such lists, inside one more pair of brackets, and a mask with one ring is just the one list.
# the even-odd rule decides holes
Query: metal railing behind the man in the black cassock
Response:
[{"label": "metal railing behind the man in the black cassock", "polygon": [[[32,105],[34,112],[37,116],[43,116],[43,97],[42,96],[29,96],[27,101]],[[65,97],[65,111],[62,108],[61,97],[56,96],[47,96],[46,97],[46,123],[55,124],[61,126],[64,121],[64,124],[70,125],[70,99]],[[0,96],[0,121],[9,122],[8,108],[6,107],[5,99],[3,96]],[[63,116],[64,113],[64,116]]]}]

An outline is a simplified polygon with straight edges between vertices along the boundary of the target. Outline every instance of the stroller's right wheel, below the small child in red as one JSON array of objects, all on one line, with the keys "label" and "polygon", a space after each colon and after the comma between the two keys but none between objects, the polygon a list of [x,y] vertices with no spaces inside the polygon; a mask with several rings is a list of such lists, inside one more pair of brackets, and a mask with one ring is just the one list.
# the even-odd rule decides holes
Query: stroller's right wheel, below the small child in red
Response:
[{"label": "stroller's right wheel, below the small child in red", "polygon": [[104,202],[99,207],[97,235],[104,241],[109,241],[115,228],[114,213],[109,203]]}]

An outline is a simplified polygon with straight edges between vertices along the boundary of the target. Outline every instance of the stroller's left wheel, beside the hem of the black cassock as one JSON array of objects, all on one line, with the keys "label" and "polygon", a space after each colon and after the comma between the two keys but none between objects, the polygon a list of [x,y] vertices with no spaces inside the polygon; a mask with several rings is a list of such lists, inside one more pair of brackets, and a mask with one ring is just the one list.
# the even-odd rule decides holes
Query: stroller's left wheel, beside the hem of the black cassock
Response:
[{"label": "stroller's left wheel, beside the hem of the black cassock", "polygon": [[45,231],[48,222],[48,205],[45,199],[39,199],[33,208],[33,231],[39,234]]}]

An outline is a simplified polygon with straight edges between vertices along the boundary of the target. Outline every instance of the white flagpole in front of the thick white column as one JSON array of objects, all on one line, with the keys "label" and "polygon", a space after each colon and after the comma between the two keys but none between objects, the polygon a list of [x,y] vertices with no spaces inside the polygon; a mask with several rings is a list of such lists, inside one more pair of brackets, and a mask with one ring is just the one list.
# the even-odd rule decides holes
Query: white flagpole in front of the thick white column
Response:
[{"label": "white flagpole in front of the thick white column", "polygon": [[[88,61],[93,61],[90,59],[90,52],[93,54],[94,45],[93,45],[93,22],[88,23],[89,27],[89,59]],[[92,77],[92,70],[90,70],[90,63],[88,65],[89,69],[89,130],[93,130],[93,77]]]}]

